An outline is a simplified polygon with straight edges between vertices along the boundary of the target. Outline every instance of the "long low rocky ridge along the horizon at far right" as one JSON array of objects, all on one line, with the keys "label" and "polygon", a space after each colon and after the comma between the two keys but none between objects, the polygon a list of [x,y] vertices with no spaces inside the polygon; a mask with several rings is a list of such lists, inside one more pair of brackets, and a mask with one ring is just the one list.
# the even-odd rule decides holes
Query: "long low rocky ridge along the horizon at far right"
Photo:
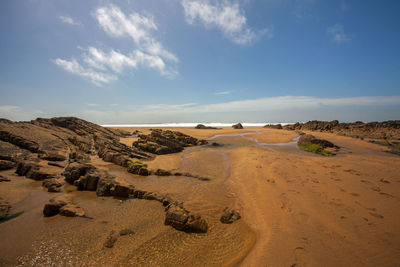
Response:
[{"label": "long low rocky ridge along the horizon at far right", "polygon": [[306,123],[295,123],[283,126],[285,130],[320,131],[333,132],[355,138],[387,138],[400,139],[400,120],[368,122],[361,121],[352,123],[339,123],[339,121],[309,121]]}]

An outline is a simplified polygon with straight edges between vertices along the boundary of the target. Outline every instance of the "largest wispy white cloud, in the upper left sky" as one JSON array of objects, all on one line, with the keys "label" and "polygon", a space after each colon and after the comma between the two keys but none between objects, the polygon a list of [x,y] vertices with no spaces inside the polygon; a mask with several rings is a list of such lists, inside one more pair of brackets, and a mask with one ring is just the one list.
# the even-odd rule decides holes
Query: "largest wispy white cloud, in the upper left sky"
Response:
[{"label": "largest wispy white cloud, in the upper left sky", "polygon": [[[57,58],[53,60],[56,65],[98,86],[118,80],[125,69],[138,67],[155,70],[167,78],[174,78],[178,74],[176,64],[179,59],[154,37],[153,33],[158,28],[152,16],[136,12],[126,15],[115,5],[97,8],[93,16],[109,36],[130,37],[136,49],[125,54],[112,48],[103,51],[89,46],[87,49],[81,48],[84,50],[83,62]],[[66,17],[63,19],[70,21]]]}]

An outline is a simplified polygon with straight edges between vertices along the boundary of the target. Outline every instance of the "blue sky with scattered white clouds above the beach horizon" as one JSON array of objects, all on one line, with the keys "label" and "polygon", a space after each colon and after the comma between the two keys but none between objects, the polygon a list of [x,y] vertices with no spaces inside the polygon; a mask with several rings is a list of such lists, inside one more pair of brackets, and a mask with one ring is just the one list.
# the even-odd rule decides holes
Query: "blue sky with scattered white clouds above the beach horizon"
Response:
[{"label": "blue sky with scattered white clouds above the beach horizon", "polygon": [[0,117],[400,119],[399,1],[2,0]]}]

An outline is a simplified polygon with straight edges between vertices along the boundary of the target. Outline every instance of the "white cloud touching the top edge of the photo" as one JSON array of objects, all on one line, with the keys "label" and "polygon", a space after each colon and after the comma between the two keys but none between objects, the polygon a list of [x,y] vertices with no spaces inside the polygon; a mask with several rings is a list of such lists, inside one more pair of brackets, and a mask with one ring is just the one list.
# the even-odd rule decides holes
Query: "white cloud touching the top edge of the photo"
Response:
[{"label": "white cloud touching the top edge of the photo", "polygon": [[[181,3],[189,24],[199,20],[206,27],[219,28],[226,38],[240,45],[251,44],[257,37],[248,27],[247,19],[237,3],[228,0],[215,5],[208,0],[182,0]],[[262,33],[273,37],[272,29],[264,29]]]}]

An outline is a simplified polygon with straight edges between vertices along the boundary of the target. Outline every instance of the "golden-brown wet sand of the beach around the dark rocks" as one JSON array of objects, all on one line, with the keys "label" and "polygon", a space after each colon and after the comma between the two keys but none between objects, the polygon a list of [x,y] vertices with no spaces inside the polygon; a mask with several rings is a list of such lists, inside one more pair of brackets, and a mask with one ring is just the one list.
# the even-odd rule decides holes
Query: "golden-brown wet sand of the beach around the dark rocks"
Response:
[{"label": "golden-brown wet sand of the beach around the dark rocks", "polygon": [[[0,266],[400,265],[400,157],[334,134],[312,133],[343,147],[337,156],[323,157],[290,144],[297,136],[293,131],[173,130],[200,139],[223,135],[211,141],[223,146],[158,156],[146,162],[149,168],[190,172],[210,181],[139,177],[97,157],[91,163],[138,189],[183,202],[207,220],[207,234],[165,226],[156,201],[101,198],[73,186],[64,190],[73,190],[68,194],[93,219],[43,218],[42,207],[54,194],[40,182],[7,171],[1,174],[12,181],[0,184],[0,196],[18,192],[9,201],[25,213],[0,224],[0,237],[7,240],[0,244]],[[238,209],[242,219],[221,224],[225,207]],[[125,228],[135,234],[104,248],[111,231]]]}]

